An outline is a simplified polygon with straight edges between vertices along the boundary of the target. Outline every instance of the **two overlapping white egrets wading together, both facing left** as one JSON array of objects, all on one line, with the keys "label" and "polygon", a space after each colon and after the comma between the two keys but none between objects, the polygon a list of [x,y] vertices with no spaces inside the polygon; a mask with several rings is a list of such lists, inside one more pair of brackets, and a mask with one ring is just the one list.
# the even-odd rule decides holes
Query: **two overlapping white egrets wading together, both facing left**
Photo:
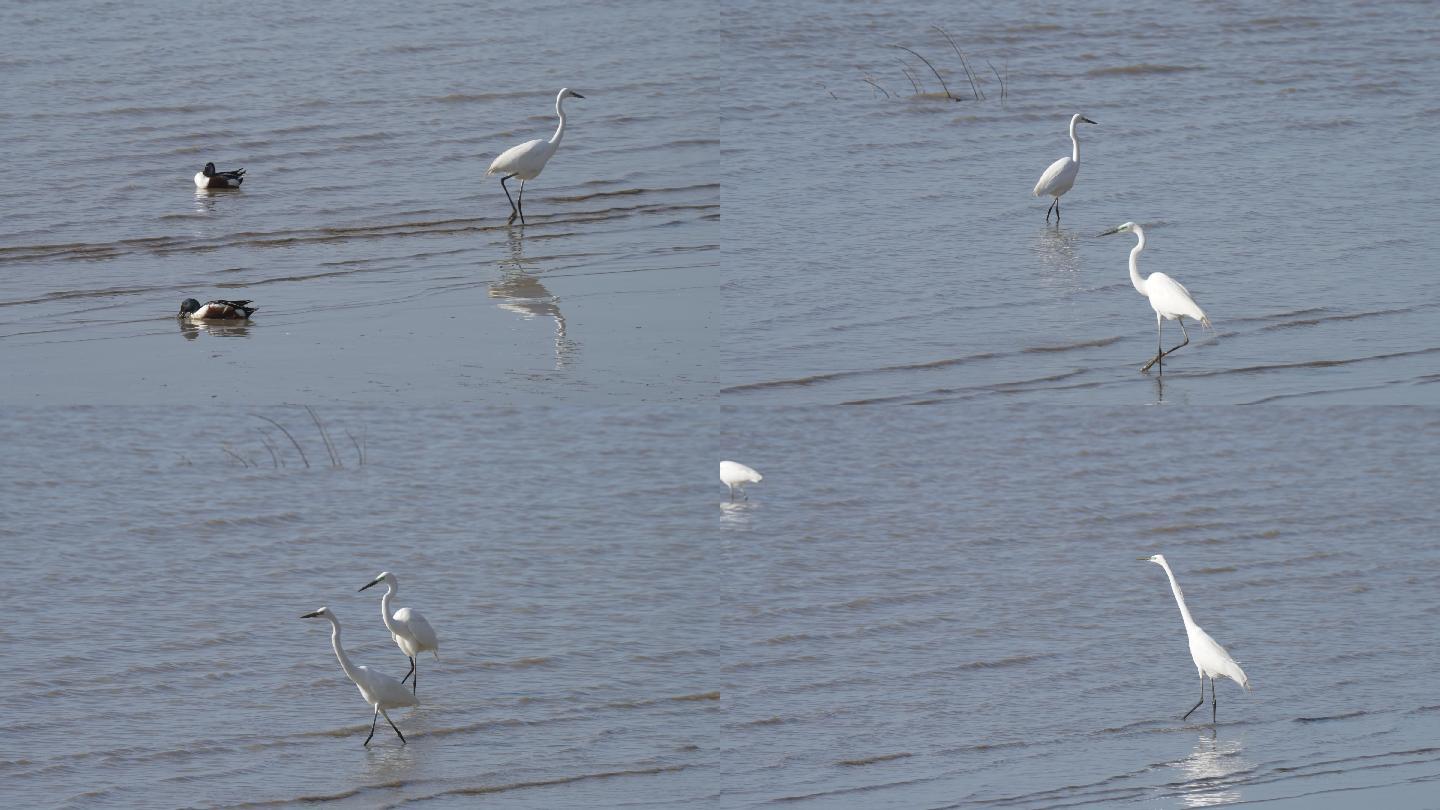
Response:
[{"label": "two overlapping white egrets wading together, both facing left", "polygon": [[[400,608],[390,613],[390,600],[400,589],[399,581],[395,574],[389,571],[382,572],[379,577],[370,581],[369,585],[361,587],[372,588],[384,582],[384,595],[380,597],[380,618],[384,620],[384,628],[390,631],[390,637],[395,638],[395,644],[400,647],[400,651],[410,659],[410,672],[405,673],[405,677],[396,680],[383,672],[376,672],[370,667],[356,666],[350,662],[350,656],[346,654],[346,649],[340,644],[340,620],[336,618],[334,611],[328,607],[323,607],[314,613],[307,613],[301,618],[328,618],[333,630],[330,631],[330,644],[336,649],[336,657],[340,659],[340,669],[346,672],[356,687],[360,690],[360,696],[364,702],[374,709],[374,716],[370,719],[370,736],[364,738],[364,744],[370,745],[370,739],[374,736],[374,726],[384,716],[384,722],[390,724],[395,729],[396,736],[400,742],[405,742],[405,735],[400,734],[399,726],[390,719],[389,709],[399,709],[402,706],[418,706],[420,703],[420,670],[415,664],[415,656],[429,651],[435,654],[435,660],[441,659],[441,641],[435,636],[435,628],[431,623],[420,615],[420,611],[415,608]],[[410,676],[415,676],[415,682],[410,683],[410,690],[405,690],[405,682]]]}]

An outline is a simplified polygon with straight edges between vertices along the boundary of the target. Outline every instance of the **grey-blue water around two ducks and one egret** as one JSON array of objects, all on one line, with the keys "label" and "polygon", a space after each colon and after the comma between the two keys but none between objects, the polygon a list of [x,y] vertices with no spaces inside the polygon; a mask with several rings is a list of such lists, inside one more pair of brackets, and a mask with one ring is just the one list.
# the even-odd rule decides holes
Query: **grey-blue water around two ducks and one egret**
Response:
[{"label": "grey-blue water around two ducks and one egret", "polygon": [[[0,373],[26,382],[4,401],[714,391],[698,20],[691,3],[6,4]],[[586,98],[530,183],[530,225],[507,228],[484,170],[550,137],[564,85]],[[206,160],[245,166],[242,190],[197,193]],[[186,297],[261,311],[187,329]]]}]

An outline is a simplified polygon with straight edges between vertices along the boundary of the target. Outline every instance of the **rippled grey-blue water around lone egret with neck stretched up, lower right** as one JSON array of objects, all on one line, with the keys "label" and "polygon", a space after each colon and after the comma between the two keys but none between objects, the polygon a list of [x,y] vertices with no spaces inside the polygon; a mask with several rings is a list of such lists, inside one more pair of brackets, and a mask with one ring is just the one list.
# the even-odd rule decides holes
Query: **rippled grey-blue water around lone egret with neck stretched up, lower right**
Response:
[{"label": "rippled grey-blue water around lone egret with neck stretched up, lower right", "polygon": [[[1434,807],[1437,440],[1418,409],[770,412],[719,516],[726,804]],[[1179,721],[1151,553],[1254,687],[1215,728]]]}]

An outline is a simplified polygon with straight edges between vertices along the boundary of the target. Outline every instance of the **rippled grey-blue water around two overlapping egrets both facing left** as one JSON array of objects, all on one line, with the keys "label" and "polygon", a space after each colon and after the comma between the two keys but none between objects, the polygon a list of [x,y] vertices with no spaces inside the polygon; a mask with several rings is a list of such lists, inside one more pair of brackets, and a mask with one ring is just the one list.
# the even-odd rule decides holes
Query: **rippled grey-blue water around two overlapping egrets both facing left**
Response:
[{"label": "rippled grey-blue water around two overlapping egrets both facing left", "polygon": [[[288,444],[272,461],[242,411],[0,415],[6,594],[26,617],[0,630],[9,806],[717,793],[714,487],[694,464],[714,451],[687,418],[317,411],[334,468],[304,411],[261,412],[310,468]],[[403,676],[379,595],[356,592],[380,571],[441,662],[420,662],[422,705],[392,712],[409,745],[384,729],[366,749],[330,626],[298,617],[328,605],[356,663]]]}]

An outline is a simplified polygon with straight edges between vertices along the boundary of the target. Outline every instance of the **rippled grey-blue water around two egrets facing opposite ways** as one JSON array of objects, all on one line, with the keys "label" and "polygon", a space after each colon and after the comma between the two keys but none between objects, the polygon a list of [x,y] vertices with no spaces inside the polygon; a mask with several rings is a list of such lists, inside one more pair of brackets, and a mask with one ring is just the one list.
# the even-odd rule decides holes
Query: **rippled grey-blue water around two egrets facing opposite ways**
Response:
[{"label": "rippled grey-blue water around two egrets facing opposite ways", "polygon": [[[723,30],[752,65],[723,117],[730,401],[1436,402],[1436,4],[740,3]],[[909,98],[897,58],[940,85],[890,43],[966,101]],[[1077,111],[1047,228],[1030,192]],[[1133,238],[1092,238],[1126,221],[1217,327],[1164,392]]]}]

